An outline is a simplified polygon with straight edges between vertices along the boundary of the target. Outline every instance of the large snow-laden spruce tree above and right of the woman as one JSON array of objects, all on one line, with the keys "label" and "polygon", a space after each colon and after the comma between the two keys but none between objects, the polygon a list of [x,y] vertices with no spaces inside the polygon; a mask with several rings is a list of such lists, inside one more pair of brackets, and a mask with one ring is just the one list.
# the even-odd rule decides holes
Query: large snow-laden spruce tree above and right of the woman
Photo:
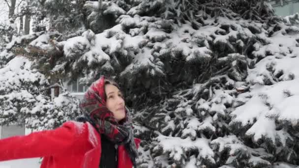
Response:
[{"label": "large snow-laden spruce tree above and right of the woman", "polygon": [[[91,23],[99,1],[85,4]],[[54,41],[64,56],[52,71],[84,84],[116,77],[143,140],[140,167],[299,165],[296,15],[261,0],[116,5],[112,28]]]}]

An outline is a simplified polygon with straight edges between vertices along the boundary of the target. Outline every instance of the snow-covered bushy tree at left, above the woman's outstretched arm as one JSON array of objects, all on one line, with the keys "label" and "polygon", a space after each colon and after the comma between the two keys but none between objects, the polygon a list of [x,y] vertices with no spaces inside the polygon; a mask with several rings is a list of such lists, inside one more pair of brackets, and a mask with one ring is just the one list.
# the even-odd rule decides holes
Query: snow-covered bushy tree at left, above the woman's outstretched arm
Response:
[{"label": "snow-covered bushy tree at left, above the woman's outstretched arm", "polygon": [[[53,129],[79,115],[79,100],[65,91],[51,101],[48,79],[32,67],[32,61],[49,50],[51,45],[47,42],[56,35],[43,33],[17,37],[0,54],[3,61],[0,69],[1,125],[26,124],[34,130]],[[23,50],[27,44],[30,45]],[[34,55],[28,55],[33,49],[30,53]]]}]

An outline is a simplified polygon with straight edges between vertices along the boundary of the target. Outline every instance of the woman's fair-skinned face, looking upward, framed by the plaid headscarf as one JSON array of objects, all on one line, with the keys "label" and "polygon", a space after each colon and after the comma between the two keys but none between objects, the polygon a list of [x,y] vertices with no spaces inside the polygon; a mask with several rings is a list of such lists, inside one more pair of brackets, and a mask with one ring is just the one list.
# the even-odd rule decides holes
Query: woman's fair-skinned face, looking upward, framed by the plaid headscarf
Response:
[{"label": "woman's fair-skinned face, looking upward, framed by the plaid headscarf", "polygon": [[124,100],[119,88],[113,84],[105,84],[106,106],[120,121],[125,117]]}]

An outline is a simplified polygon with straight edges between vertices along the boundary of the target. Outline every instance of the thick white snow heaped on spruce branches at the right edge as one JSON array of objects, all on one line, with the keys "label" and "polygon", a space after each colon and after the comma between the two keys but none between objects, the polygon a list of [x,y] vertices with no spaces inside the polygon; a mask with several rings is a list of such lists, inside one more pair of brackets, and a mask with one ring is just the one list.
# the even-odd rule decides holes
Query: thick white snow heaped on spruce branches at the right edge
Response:
[{"label": "thick white snow heaped on spruce branches at the right edge", "polygon": [[[253,124],[246,134],[252,135],[255,141],[265,136],[275,142],[275,138],[280,137],[285,145],[285,140],[290,136],[283,130],[275,130],[272,117],[288,120],[293,125],[299,123],[299,48],[296,47],[294,36],[282,35],[281,31],[270,38],[261,33],[269,45],[256,46],[258,50],[255,54],[265,57],[268,52],[269,56],[248,70],[246,81],[253,84],[252,90],[240,94],[239,98],[250,98],[243,99],[246,103],[231,113],[234,118],[230,124]],[[276,81],[272,80],[279,74]],[[272,85],[264,85],[265,80],[270,80]]]}]

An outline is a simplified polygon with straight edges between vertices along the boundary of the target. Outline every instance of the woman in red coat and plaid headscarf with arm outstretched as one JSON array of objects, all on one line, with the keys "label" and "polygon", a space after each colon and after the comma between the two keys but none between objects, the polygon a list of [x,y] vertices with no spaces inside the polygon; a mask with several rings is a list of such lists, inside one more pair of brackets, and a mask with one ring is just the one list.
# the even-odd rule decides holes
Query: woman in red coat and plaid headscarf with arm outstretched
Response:
[{"label": "woman in red coat and plaid headscarf with arm outstretched", "polygon": [[0,140],[0,161],[44,157],[40,168],[136,168],[140,140],[133,138],[119,86],[101,77],[80,108],[81,122]]}]

